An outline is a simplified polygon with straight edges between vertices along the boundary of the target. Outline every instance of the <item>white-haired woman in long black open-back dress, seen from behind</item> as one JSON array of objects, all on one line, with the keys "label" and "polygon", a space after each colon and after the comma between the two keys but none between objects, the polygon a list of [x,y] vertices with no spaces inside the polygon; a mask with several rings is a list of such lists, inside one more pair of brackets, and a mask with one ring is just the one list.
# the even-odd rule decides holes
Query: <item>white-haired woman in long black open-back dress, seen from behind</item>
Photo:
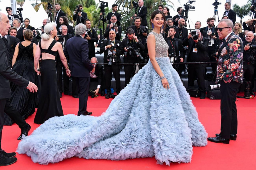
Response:
[{"label": "white-haired woman in long black open-back dress, seen from behind", "polygon": [[[71,75],[66,57],[62,50],[62,45],[60,42],[54,40],[54,37],[57,35],[56,24],[46,24],[44,32],[45,34],[41,35],[41,41],[38,43],[34,57],[34,70],[37,74],[41,74],[42,85],[37,114],[34,119],[34,123],[37,124],[42,124],[51,117],[63,115],[59,90],[57,87],[57,74],[55,68],[56,56],[60,56],[60,59],[66,68],[67,75]],[[41,68],[38,70],[40,55],[42,55],[42,62]]]}]

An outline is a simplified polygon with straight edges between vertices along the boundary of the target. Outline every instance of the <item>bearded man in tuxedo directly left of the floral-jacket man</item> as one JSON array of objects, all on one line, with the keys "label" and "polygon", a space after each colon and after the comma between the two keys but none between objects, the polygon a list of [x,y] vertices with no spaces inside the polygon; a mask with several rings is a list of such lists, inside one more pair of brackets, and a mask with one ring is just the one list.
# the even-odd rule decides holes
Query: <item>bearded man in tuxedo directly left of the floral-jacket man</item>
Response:
[{"label": "bearded man in tuxedo directly left of the floral-jacket man", "polygon": [[[202,30],[207,32],[207,38],[210,39],[207,53],[210,58],[210,61],[212,62],[217,61],[217,58],[213,57],[213,54],[215,54],[219,49],[219,35],[217,33],[217,29],[213,27],[214,22],[215,22],[215,18],[208,18],[206,21],[208,26],[202,28]],[[212,72],[216,73],[217,64],[211,63],[211,67],[212,67]]]}]

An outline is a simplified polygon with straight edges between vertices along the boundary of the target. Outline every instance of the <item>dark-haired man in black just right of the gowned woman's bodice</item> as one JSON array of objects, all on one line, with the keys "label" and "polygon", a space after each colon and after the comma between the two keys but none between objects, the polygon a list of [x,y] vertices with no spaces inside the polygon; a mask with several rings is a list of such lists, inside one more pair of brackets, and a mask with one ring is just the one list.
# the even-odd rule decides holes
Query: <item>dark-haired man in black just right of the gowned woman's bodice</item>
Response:
[{"label": "dark-haired man in black just right of the gowned woman's bodice", "polygon": [[[173,57],[171,63],[183,62],[185,53],[183,51],[182,41],[174,38],[176,33],[175,27],[169,27],[169,37],[165,39],[169,46],[168,54],[170,57]],[[170,58],[171,59],[171,58]],[[182,69],[179,67],[179,64],[174,64],[173,68],[178,72],[179,77],[181,76]]]}]

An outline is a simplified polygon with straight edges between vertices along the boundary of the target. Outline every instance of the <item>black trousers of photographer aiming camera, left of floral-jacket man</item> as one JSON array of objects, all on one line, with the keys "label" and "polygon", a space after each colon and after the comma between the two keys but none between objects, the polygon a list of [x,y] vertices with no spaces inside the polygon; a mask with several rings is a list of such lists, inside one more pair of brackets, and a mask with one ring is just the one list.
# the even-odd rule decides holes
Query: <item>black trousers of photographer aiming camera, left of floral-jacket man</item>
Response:
[{"label": "black trousers of photographer aiming camera, left of floral-jacket man", "polygon": [[200,92],[205,90],[205,71],[206,68],[202,64],[189,64],[188,65],[188,86],[194,86],[195,77]]}]

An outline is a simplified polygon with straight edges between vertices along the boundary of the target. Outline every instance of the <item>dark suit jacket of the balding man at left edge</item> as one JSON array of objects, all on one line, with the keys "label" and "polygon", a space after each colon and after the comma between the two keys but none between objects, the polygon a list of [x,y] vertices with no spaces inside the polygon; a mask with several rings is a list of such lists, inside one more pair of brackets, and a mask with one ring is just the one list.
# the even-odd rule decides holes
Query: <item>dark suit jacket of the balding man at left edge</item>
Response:
[{"label": "dark suit jacket of the balding man at left edge", "polygon": [[9,53],[4,40],[0,37],[0,99],[11,97],[10,81],[26,88],[28,80],[15,73],[9,65]]}]

